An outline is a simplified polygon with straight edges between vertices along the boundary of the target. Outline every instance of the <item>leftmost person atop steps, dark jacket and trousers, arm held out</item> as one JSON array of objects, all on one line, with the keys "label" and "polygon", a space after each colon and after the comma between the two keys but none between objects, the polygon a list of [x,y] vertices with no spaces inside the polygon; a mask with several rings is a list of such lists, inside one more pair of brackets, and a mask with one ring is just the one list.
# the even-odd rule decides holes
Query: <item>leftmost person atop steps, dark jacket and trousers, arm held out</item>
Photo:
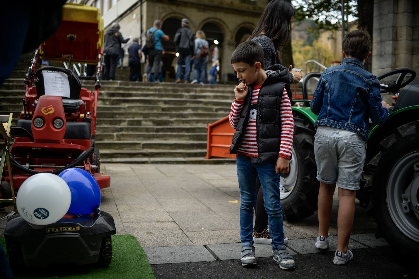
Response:
[{"label": "leftmost person atop steps, dark jacket and trousers, arm held out", "polygon": [[121,26],[114,22],[111,25],[111,29],[105,34],[105,46],[103,49],[103,52],[105,53],[105,68],[103,69],[103,80],[115,79],[115,69],[118,65],[121,44],[124,44],[131,39],[131,36],[124,39],[119,32],[120,28]]}]

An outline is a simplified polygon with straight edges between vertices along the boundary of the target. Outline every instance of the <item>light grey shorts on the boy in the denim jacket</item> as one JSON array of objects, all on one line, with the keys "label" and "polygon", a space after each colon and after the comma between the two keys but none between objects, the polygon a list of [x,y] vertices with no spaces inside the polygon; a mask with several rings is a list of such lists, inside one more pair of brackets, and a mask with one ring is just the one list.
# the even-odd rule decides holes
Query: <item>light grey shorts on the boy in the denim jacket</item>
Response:
[{"label": "light grey shorts on the boy in the denim jacket", "polygon": [[358,133],[320,125],[314,136],[317,179],[348,190],[360,189],[367,142]]}]

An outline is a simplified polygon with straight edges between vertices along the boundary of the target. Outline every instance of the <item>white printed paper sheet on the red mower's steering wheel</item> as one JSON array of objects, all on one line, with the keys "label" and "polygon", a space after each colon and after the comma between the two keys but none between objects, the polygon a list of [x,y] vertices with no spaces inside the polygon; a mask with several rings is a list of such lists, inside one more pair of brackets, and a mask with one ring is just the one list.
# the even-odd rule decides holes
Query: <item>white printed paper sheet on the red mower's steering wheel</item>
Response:
[{"label": "white printed paper sheet on the red mower's steering wheel", "polygon": [[68,75],[63,72],[43,71],[45,95],[70,98]]}]

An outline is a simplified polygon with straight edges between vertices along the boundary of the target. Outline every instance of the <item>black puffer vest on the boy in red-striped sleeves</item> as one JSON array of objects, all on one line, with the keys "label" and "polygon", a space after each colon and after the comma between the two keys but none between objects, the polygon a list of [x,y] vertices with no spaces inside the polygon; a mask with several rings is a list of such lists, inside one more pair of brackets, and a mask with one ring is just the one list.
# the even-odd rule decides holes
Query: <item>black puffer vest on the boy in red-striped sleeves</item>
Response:
[{"label": "black puffer vest on the boy in red-striped sleeves", "polygon": [[[256,142],[258,145],[258,158],[260,163],[275,163],[279,155],[281,144],[281,118],[280,107],[282,92],[287,90],[291,99],[290,78],[287,68],[282,65],[274,65],[271,70],[266,70],[267,78],[259,90],[258,103],[256,105]],[[248,87],[248,93],[244,101],[243,109],[238,120],[236,132],[230,146],[230,153],[236,154],[241,144],[249,120],[252,88]]]}]

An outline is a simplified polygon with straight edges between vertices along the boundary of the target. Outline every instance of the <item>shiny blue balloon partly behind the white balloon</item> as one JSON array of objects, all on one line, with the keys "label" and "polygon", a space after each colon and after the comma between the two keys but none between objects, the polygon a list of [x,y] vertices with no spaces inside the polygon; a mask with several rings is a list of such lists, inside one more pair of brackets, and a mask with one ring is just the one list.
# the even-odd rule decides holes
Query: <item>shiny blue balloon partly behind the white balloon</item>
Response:
[{"label": "shiny blue balloon partly behind the white balloon", "polygon": [[101,189],[95,178],[80,168],[67,168],[59,175],[71,192],[69,213],[90,214],[101,205]]}]

